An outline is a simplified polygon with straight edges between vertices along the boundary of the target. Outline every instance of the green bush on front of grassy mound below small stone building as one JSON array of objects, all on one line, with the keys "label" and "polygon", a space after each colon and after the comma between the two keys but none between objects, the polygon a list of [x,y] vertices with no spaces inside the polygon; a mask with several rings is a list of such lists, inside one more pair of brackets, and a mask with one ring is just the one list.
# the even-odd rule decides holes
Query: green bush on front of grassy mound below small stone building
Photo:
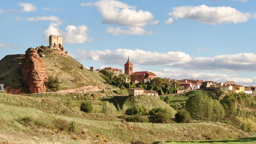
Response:
[{"label": "green bush on front of grassy mound below small stone building", "polygon": [[126,115],[148,115],[148,109],[146,106],[141,104],[134,104],[132,107],[126,109],[125,111]]}]

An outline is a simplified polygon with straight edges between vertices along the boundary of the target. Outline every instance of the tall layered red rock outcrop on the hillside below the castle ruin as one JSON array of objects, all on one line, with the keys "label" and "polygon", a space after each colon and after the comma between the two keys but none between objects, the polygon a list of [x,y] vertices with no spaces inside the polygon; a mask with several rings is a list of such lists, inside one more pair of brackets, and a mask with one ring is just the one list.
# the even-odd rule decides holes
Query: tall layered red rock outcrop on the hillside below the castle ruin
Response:
[{"label": "tall layered red rock outcrop on the hillside below the castle ruin", "polygon": [[29,48],[26,51],[21,66],[21,74],[30,93],[46,92],[45,82],[48,81],[46,67],[35,49]]}]

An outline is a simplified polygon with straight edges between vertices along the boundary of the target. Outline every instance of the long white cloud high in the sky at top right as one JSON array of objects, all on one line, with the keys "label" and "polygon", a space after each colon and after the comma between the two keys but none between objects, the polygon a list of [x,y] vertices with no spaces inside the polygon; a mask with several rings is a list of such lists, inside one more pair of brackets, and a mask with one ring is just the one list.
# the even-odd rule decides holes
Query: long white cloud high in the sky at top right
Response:
[{"label": "long white cloud high in the sky at top right", "polygon": [[250,13],[242,13],[235,8],[220,6],[179,6],[168,14],[175,19],[192,19],[206,24],[241,23],[250,19]]}]

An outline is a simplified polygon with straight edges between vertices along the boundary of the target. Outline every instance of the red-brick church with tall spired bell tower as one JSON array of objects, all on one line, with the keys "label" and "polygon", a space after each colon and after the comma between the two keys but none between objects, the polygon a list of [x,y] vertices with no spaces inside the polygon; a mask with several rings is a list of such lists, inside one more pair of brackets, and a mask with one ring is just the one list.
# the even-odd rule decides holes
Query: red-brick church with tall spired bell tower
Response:
[{"label": "red-brick church with tall spired bell tower", "polygon": [[151,79],[154,79],[157,75],[149,72],[149,71],[143,71],[143,72],[132,72],[133,64],[129,60],[128,56],[128,61],[125,63],[125,74],[129,75],[131,77],[131,81],[138,83],[140,81],[147,82]]}]

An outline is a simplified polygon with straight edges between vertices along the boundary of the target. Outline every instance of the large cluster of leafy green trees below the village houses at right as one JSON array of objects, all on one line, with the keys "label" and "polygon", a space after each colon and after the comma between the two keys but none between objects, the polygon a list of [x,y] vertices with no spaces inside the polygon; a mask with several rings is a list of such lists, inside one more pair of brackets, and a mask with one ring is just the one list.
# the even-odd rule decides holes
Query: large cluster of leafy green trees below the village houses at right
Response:
[{"label": "large cluster of leafy green trees below the village houses at right", "polygon": [[256,99],[246,93],[228,94],[219,101],[195,91],[183,109],[193,120],[226,122],[247,132],[256,131]]}]

